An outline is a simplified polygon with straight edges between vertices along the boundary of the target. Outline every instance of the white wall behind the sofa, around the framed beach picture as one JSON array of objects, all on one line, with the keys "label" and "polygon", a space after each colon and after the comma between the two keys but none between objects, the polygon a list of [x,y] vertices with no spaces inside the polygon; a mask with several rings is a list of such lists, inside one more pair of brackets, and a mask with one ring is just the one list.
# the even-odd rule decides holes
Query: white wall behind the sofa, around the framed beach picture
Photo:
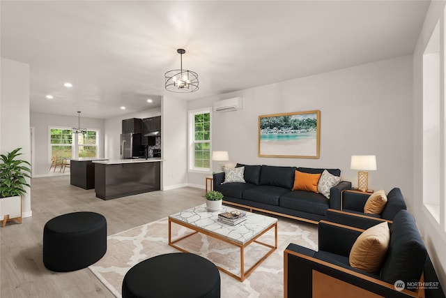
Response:
[{"label": "white wall behind the sofa, around the framed beach picture", "polygon": [[[229,151],[232,163],[337,167],[357,186],[351,155],[375,154],[378,170],[369,172],[369,188],[397,186],[413,207],[412,56],[193,100],[188,109],[234,96],[244,98],[243,110],[214,112],[212,137],[213,149]],[[320,158],[258,156],[259,115],[308,110],[321,110]],[[188,183],[204,186],[205,176],[189,173]]]}]

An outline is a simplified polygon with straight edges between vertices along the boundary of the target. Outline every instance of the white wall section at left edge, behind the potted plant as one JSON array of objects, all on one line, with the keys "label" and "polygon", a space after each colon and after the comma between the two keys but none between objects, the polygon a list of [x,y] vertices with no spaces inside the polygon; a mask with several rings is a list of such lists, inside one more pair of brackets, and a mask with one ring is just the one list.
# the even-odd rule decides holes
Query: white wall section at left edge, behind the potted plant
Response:
[{"label": "white wall section at left edge, behind the potted plant", "polygon": [[[1,58],[0,152],[21,147],[20,159],[31,162],[29,65]],[[26,179],[31,184],[30,179]],[[31,189],[22,198],[22,216],[32,215]]]}]

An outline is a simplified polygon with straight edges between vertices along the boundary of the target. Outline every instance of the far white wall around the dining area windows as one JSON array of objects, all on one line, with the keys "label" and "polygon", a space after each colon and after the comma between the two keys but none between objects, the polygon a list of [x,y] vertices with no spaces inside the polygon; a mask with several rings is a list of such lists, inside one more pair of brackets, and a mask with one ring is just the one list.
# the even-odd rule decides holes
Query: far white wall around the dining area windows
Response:
[{"label": "far white wall around the dining area windows", "polygon": [[[34,127],[34,172],[33,177],[43,177],[49,169],[49,127],[77,127],[79,119],[76,116],[45,114],[31,112],[31,126]],[[104,119],[80,118],[82,128],[100,131],[99,157],[104,156]]]}]

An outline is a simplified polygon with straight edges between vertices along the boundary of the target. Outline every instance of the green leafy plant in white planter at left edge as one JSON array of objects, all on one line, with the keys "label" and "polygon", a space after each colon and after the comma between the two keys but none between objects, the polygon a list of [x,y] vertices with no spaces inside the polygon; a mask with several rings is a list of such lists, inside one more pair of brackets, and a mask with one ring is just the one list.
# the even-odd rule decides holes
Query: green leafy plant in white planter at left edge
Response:
[{"label": "green leafy plant in white planter at left edge", "polygon": [[31,177],[28,167],[31,164],[16,159],[22,155],[19,153],[21,149],[0,155],[0,221],[3,221],[3,227],[8,220],[17,219],[22,223],[22,195],[26,193],[25,186],[31,187],[26,183],[26,177]]}]

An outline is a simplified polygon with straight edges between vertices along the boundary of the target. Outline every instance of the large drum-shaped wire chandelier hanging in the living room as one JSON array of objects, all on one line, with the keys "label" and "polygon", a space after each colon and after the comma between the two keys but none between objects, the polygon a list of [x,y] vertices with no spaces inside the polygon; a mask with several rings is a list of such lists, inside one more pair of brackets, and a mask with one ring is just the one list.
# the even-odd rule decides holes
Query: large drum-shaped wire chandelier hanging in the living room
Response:
[{"label": "large drum-shaped wire chandelier hanging in the living room", "polygon": [[183,54],[185,50],[176,50],[180,54],[180,69],[169,70],[166,77],[166,90],[178,93],[194,92],[198,90],[198,75],[192,70],[183,69]]}]

